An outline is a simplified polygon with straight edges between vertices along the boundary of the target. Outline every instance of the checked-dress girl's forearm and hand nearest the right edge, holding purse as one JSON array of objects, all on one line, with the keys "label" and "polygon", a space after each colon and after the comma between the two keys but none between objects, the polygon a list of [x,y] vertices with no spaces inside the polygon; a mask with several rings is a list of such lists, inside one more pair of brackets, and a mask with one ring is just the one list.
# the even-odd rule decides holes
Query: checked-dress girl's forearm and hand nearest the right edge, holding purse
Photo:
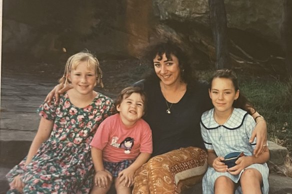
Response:
[{"label": "checked-dress girl's forearm and hand nearest the right edge, holding purse", "polygon": [[268,148],[265,147],[264,152],[259,155],[258,157],[252,156],[243,156],[238,158],[238,160],[235,162],[236,166],[228,169],[229,173],[232,175],[238,175],[242,169],[245,169],[246,167],[252,165],[252,164],[264,164],[269,159],[269,151]]}]

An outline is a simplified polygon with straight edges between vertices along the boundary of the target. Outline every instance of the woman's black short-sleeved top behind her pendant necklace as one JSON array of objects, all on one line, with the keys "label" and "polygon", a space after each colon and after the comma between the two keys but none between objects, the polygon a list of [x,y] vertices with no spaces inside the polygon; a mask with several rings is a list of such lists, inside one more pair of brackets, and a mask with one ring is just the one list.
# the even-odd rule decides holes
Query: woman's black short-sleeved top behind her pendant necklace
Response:
[{"label": "woman's black short-sleeved top behind her pendant necklace", "polygon": [[143,119],[152,130],[152,156],[188,146],[204,149],[199,122],[202,113],[212,108],[206,83],[187,86],[179,102],[172,104],[171,114],[166,113],[159,81],[139,81],[135,85],[142,87],[147,95],[147,113]]}]

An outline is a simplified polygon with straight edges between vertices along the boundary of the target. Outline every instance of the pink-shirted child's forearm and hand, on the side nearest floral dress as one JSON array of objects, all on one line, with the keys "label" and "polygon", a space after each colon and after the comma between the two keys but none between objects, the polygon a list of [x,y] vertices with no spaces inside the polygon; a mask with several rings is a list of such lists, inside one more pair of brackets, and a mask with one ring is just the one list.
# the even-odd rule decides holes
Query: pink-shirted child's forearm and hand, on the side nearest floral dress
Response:
[{"label": "pink-shirted child's forearm and hand, on the side nearest floral dress", "polygon": [[103,162],[102,162],[102,150],[99,150],[97,148],[91,147],[91,158],[95,170],[94,175],[94,185],[96,187],[108,187],[108,180],[112,180],[112,176],[104,170]]}]

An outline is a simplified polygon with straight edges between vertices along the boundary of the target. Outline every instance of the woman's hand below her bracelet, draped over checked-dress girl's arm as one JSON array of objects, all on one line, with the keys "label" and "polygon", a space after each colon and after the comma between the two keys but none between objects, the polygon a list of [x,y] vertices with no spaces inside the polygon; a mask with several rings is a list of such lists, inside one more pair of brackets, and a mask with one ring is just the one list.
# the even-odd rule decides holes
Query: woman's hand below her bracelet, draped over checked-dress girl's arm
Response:
[{"label": "woman's hand below her bracelet, draped over checked-dress girl's arm", "polygon": [[262,119],[261,121],[257,122],[252,131],[251,137],[249,139],[249,143],[252,143],[254,138],[256,137],[256,146],[253,151],[253,155],[258,157],[261,155],[266,147],[266,122]]}]

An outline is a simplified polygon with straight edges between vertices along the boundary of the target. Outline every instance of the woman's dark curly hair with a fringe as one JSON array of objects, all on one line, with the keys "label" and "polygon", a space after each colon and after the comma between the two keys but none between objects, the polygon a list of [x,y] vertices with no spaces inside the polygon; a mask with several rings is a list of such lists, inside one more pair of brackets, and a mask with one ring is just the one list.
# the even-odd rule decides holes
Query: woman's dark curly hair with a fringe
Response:
[{"label": "woman's dark curly hair with a fringe", "polygon": [[[189,84],[193,83],[196,78],[192,74],[192,69],[189,64],[189,59],[180,46],[178,46],[178,43],[174,43],[171,41],[157,43],[155,45],[151,45],[147,48],[145,57],[149,60],[150,64],[153,66],[153,59],[158,55],[159,59],[162,59],[162,55],[165,54],[166,58],[169,60],[171,59],[171,54],[176,56],[179,63],[179,69],[180,69],[180,76],[181,81]],[[152,71],[150,75],[146,77],[150,79],[159,79],[155,72],[153,71],[154,68],[152,68]]]}]

